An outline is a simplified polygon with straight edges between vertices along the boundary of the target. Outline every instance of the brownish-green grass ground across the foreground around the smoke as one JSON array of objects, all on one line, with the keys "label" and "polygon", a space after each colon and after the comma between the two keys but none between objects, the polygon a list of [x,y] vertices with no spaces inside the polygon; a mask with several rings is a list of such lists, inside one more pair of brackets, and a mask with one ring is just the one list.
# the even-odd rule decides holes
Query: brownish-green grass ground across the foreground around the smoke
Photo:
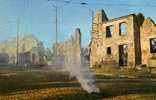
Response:
[{"label": "brownish-green grass ground across the foreground around the smoke", "polygon": [[[67,72],[0,71],[0,100],[155,100],[156,75],[145,71],[94,69],[101,93],[88,94]],[[120,75],[120,76],[119,76]],[[122,77],[121,77],[122,76]]]}]

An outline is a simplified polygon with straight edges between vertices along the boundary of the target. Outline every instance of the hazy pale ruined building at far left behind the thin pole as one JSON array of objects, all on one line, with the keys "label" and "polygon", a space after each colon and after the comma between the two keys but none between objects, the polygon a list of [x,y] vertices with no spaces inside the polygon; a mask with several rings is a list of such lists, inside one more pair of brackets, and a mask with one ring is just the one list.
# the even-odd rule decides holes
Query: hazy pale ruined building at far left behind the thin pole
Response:
[{"label": "hazy pale ruined building at far left behind the thin pole", "polygon": [[[16,64],[17,39],[10,39],[0,43],[0,64]],[[34,65],[44,63],[43,43],[33,35],[19,38],[18,56],[20,65]]]}]

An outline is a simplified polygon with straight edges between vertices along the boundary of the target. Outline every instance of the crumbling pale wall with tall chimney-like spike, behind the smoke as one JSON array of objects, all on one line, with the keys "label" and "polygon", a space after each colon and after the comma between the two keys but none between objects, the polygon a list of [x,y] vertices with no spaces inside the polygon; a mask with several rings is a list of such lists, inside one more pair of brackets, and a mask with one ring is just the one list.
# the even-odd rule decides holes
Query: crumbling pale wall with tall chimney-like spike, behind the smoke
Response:
[{"label": "crumbling pale wall with tall chimney-like spike, behind the smoke", "polygon": [[[57,49],[55,49],[57,48]],[[57,51],[55,51],[57,50]],[[64,66],[66,62],[80,62],[81,60],[81,32],[77,28],[73,36],[68,40],[57,43],[54,45],[54,53],[57,53],[57,58],[54,56],[55,62],[58,62],[59,66]],[[58,66],[58,65],[57,65]]]}]

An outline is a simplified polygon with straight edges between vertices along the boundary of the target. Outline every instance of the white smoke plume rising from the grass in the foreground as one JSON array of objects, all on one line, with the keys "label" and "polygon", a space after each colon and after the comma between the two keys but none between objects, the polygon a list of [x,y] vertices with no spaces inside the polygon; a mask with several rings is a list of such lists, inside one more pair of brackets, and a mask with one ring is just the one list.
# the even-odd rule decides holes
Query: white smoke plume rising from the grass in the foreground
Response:
[{"label": "white smoke plume rising from the grass in the foreground", "polygon": [[70,73],[71,77],[76,77],[81,87],[88,93],[100,92],[99,88],[95,85],[93,73],[90,71],[89,66],[85,64],[83,57],[81,60],[77,60],[74,57],[66,57],[65,69]]}]

